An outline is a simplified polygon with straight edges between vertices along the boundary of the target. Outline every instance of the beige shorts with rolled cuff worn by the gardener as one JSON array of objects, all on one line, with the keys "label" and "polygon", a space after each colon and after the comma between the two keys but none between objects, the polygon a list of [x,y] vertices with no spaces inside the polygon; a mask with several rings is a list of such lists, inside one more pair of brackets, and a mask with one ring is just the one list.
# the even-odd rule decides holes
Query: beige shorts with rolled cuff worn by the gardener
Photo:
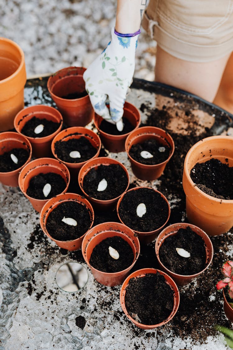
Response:
[{"label": "beige shorts with rolled cuff worn by the gardener", "polygon": [[172,56],[214,61],[233,51],[233,0],[150,0],[142,26]]}]

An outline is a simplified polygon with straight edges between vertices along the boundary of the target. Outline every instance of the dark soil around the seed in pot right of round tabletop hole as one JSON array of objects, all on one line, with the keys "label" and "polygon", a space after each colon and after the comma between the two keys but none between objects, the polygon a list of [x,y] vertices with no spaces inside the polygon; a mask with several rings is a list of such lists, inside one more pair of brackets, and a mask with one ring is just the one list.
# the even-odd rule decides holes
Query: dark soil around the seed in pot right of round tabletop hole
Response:
[{"label": "dark soil around the seed in pot right of round tabletop hole", "polygon": [[[116,249],[119,259],[109,254],[109,246]],[[129,243],[119,236],[108,237],[95,246],[90,256],[90,265],[102,272],[123,271],[133,263],[133,251]]]}]

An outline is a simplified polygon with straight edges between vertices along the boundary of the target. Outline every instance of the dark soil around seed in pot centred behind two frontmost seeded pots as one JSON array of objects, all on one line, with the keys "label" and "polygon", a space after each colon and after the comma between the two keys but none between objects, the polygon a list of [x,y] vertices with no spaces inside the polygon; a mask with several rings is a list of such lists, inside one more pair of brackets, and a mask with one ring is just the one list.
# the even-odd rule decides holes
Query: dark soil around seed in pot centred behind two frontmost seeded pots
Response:
[{"label": "dark soil around seed in pot centred behind two frontmost seeded pots", "polygon": [[[137,216],[138,204],[144,203],[146,214]],[[126,226],[139,232],[151,232],[165,224],[168,205],[158,192],[150,188],[140,188],[127,192],[120,205],[119,216]]]}]

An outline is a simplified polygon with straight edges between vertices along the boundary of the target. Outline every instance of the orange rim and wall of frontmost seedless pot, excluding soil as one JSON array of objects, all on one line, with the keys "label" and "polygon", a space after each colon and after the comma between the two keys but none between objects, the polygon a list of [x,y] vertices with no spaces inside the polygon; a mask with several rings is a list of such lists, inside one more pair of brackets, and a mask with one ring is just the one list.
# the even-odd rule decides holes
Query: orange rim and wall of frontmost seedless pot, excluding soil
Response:
[{"label": "orange rim and wall of frontmost seedless pot, excluding soil", "polygon": [[[140,277],[144,277],[146,274],[148,273],[156,273],[156,272],[159,272],[161,275],[164,276],[165,280],[166,280],[166,283],[172,288],[172,290],[174,291],[174,306],[173,306],[173,310],[171,312],[171,314],[169,315],[168,318],[166,318],[166,320],[164,320],[163,322],[161,323],[158,323],[158,324],[151,324],[151,325],[147,325],[147,324],[142,324],[142,323],[139,323],[137,321],[134,320],[134,318],[132,318],[129,314],[128,314],[128,311],[126,310],[126,307],[125,307],[125,293],[126,293],[126,290],[125,288],[127,287],[129,281],[131,278],[140,278]],[[172,320],[172,318],[175,316],[177,310],[178,310],[178,307],[179,307],[179,304],[180,304],[180,293],[179,293],[179,290],[175,284],[175,282],[173,281],[172,278],[170,278],[170,276],[168,276],[166,273],[160,271],[160,270],[156,270],[154,268],[142,268],[140,270],[137,270],[133,273],[131,273],[126,279],[125,281],[123,282],[122,284],[122,287],[121,287],[121,291],[120,291],[120,302],[121,302],[121,307],[125,313],[125,315],[129,318],[129,320],[131,322],[133,322],[137,327],[139,328],[143,328],[143,329],[153,329],[153,328],[156,328],[156,327],[160,327],[166,323],[168,323],[170,320]]]}]

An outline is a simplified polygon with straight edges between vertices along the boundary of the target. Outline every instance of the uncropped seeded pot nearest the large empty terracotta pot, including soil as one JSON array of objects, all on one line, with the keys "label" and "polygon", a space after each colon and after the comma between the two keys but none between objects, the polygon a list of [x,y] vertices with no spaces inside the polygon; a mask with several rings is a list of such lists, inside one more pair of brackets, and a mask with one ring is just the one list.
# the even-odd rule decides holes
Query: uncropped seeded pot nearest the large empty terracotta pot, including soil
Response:
[{"label": "uncropped seeded pot nearest the large empty terracotta pot, including soil", "polygon": [[30,106],[21,110],[14,119],[14,127],[32,145],[36,158],[51,156],[51,142],[61,130],[63,118],[53,107]]}]

